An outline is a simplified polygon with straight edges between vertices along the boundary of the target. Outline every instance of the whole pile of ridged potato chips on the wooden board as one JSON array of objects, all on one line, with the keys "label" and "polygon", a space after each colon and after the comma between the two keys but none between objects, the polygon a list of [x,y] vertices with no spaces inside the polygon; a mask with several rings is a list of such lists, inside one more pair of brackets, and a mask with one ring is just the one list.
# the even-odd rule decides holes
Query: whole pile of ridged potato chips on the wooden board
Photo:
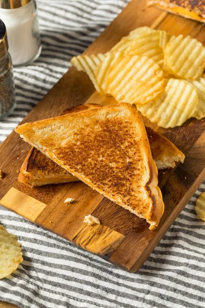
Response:
[{"label": "whole pile of ridged potato chips on the wooden board", "polygon": [[158,126],[205,117],[205,47],[195,38],[140,27],[106,54],[78,55],[71,63],[100,94],[135,104]]}]

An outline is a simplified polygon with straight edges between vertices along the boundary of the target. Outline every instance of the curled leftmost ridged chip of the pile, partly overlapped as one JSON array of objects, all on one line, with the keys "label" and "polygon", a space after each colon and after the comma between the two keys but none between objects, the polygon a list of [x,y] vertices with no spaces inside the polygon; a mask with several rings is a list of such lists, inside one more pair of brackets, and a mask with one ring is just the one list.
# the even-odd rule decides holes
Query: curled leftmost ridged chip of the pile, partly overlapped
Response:
[{"label": "curled leftmost ridged chip of the pile, partly overlapped", "polygon": [[88,74],[90,80],[92,81],[95,89],[102,95],[104,95],[104,91],[98,85],[95,77],[95,69],[98,63],[105,59],[105,55],[99,53],[98,55],[78,55],[74,56],[71,59],[71,64],[77,68],[78,71],[84,71]]}]

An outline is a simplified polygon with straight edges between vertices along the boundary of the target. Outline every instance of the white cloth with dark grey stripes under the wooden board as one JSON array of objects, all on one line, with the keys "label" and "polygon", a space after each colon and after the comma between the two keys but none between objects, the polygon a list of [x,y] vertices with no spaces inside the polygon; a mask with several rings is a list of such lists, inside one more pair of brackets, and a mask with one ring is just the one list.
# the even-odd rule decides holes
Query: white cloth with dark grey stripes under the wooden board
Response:
[{"label": "white cloth with dark grey stripes under the wooden board", "polygon": [[[3,141],[113,20],[127,0],[38,0],[43,50],[14,70],[17,107],[0,122]],[[196,191],[140,271],[130,274],[0,207],[0,223],[22,243],[24,262],[0,281],[0,299],[20,308],[204,307],[205,225]]]}]

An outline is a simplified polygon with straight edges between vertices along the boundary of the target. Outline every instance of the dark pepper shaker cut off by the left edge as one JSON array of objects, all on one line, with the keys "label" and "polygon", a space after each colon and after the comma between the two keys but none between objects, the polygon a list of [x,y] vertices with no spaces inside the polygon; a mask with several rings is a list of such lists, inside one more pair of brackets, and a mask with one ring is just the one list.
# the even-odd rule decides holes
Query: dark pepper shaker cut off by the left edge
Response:
[{"label": "dark pepper shaker cut off by the left edge", "polygon": [[8,53],[6,27],[0,20],[0,119],[15,108],[15,87],[11,56]]}]

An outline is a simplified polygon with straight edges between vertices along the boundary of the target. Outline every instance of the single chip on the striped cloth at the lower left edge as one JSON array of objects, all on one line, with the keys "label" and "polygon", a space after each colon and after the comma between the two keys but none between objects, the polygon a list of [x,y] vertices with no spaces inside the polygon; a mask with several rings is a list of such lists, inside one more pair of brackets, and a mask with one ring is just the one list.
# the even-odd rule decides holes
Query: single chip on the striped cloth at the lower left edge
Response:
[{"label": "single chip on the striped cloth at the lower left edge", "polygon": [[11,275],[23,261],[20,246],[16,236],[0,225],[0,279]]}]

